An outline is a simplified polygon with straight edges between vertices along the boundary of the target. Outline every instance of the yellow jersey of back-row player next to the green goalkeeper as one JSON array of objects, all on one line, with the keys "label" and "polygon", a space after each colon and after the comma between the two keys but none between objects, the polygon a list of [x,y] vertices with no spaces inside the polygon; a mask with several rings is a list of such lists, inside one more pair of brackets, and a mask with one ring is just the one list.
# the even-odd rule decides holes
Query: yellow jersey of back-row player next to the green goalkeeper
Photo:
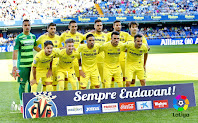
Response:
[{"label": "yellow jersey of back-row player next to the green goalkeeper", "polygon": [[45,35],[45,34],[41,35],[36,41],[37,46],[39,44],[41,44],[41,49],[44,49],[45,41],[52,41],[52,43],[54,45],[54,48],[61,48],[62,47],[60,36],[58,36],[58,35],[55,35],[53,38],[50,38],[48,35]]}]

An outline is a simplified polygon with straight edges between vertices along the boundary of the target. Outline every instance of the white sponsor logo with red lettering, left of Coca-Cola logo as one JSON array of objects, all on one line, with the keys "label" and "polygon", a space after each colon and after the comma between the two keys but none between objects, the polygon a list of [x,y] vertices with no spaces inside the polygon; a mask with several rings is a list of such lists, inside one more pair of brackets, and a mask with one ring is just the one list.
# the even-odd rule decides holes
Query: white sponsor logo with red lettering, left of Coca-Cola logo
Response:
[{"label": "white sponsor logo with red lettering, left of Coca-Cola logo", "polygon": [[102,112],[117,112],[118,103],[102,104]]}]

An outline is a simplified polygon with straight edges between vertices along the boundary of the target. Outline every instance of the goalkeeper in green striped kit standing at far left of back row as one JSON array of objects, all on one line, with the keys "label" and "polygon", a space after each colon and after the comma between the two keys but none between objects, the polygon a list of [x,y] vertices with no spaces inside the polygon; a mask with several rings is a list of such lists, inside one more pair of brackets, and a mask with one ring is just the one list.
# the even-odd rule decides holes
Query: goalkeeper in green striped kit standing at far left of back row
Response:
[{"label": "goalkeeper in green striped kit standing at far left of back row", "polygon": [[[40,51],[40,48],[36,46],[36,36],[30,33],[31,26],[29,20],[23,21],[23,32],[19,34],[15,40],[14,52],[13,52],[13,69],[12,74],[14,77],[18,74],[19,77],[17,82],[19,82],[19,97],[20,104],[23,106],[22,93],[25,92],[25,84],[28,81],[28,92],[31,91],[30,87],[30,71],[31,64],[33,61],[33,48],[36,51]],[[18,55],[18,57],[17,57]],[[17,62],[18,59],[18,62]],[[21,107],[21,112],[23,108]]]}]

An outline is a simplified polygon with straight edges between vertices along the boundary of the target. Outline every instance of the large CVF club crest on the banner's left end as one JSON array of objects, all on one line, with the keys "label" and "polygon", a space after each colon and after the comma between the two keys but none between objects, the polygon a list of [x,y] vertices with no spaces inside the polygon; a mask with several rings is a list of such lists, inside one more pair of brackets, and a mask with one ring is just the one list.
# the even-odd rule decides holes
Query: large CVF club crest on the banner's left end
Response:
[{"label": "large CVF club crest on the banner's left end", "polygon": [[25,118],[44,118],[56,117],[57,107],[52,99],[57,96],[52,96],[51,92],[35,92],[36,97],[32,98],[25,107]]}]

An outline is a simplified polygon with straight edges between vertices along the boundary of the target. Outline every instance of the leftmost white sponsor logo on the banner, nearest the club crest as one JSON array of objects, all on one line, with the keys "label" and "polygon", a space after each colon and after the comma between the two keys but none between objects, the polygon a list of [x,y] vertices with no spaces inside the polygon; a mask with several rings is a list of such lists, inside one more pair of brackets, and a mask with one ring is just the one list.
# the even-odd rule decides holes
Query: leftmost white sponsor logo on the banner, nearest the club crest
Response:
[{"label": "leftmost white sponsor logo on the banner, nearest the club crest", "polygon": [[83,114],[83,106],[76,105],[76,106],[67,106],[67,115],[72,114]]}]

